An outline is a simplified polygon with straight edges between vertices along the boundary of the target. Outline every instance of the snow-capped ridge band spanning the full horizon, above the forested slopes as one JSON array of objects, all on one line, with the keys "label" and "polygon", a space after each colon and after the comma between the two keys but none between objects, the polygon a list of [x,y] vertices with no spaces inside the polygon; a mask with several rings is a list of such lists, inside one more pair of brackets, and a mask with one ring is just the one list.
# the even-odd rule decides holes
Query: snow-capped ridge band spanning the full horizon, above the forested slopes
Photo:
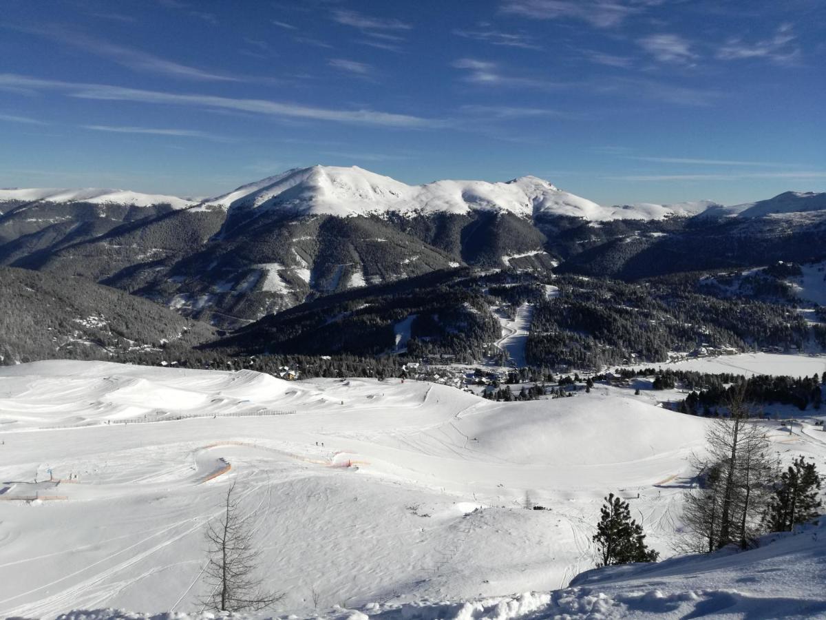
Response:
[{"label": "snow-capped ridge band spanning the full horizon, above the forested slopes", "polygon": [[826,209],[826,193],[786,191],[753,203],[712,200],[607,206],[525,175],[509,181],[441,179],[409,185],[358,166],[312,165],[252,181],[211,198],[180,198],[111,188],[6,188],[0,203],[92,203],[175,209],[220,207],[228,219],[277,212],[285,217],[332,215],[384,217],[473,211],[511,212],[519,217],[578,217],[586,222],[652,221],[668,217],[767,217]]}]

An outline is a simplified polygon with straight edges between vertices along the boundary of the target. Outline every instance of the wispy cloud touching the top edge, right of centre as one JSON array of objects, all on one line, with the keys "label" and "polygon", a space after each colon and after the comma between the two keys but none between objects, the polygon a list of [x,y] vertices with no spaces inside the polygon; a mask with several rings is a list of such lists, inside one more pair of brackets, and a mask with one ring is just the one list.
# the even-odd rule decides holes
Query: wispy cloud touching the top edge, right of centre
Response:
[{"label": "wispy cloud touching the top edge, right of centre", "polygon": [[501,10],[532,19],[573,19],[610,28],[655,3],[657,0],[504,0]]}]

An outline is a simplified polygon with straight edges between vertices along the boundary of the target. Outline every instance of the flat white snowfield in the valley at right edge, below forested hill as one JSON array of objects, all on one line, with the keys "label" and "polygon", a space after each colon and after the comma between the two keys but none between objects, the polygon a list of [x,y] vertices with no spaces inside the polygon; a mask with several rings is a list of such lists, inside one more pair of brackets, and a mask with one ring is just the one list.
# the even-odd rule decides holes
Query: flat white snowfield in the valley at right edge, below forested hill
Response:
[{"label": "flat white snowfield in the valley at right edge, below forested hill", "polygon": [[[621,367],[621,366],[620,366]],[[733,373],[751,377],[755,374],[786,374],[809,377],[826,372],[826,355],[784,355],[781,353],[739,353],[720,357],[697,357],[662,363],[627,366],[632,369],[672,368],[701,373]]]}]

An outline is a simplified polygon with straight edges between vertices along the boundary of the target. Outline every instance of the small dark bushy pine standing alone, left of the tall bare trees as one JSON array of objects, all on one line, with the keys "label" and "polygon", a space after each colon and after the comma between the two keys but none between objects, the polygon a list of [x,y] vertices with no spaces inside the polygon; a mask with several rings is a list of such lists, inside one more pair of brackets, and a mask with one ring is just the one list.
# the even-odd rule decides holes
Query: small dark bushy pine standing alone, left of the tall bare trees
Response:
[{"label": "small dark bushy pine standing alone, left of the tall bare trees", "polygon": [[605,498],[601,514],[593,536],[599,554],[597,568],[657,560],[659,554],[645,545],[643,527],[631,518],[628,502],[611,493]]}]

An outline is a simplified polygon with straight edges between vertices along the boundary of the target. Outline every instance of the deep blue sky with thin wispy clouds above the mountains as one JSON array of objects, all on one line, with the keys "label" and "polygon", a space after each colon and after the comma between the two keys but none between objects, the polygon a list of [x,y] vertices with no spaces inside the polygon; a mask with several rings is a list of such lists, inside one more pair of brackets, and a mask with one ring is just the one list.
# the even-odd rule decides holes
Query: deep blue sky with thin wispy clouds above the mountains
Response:
[{"label": "deep blue sky with thin wispy clouds above the mountains", "polygon": [[524,174],[600,203],[826,188],[824,0],[4,0],[0,187]]}]

